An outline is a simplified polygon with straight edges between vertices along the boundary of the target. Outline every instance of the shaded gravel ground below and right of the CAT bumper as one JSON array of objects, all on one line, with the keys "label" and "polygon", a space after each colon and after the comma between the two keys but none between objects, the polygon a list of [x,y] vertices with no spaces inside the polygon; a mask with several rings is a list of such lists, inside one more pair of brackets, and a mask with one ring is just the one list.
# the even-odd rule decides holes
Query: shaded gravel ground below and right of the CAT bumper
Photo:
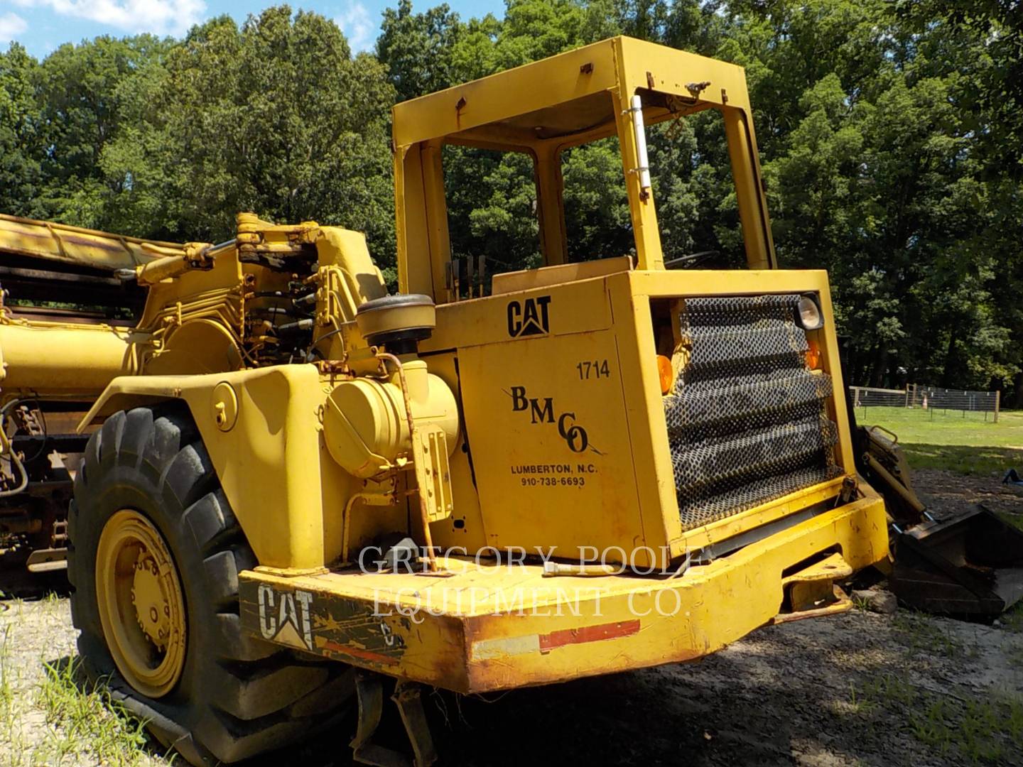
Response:
[{"label": "shaded gravel ground below and right of the CAT bumper", "polygon": [[474,765],[1023,764],[1023,733],[979,721],[1011,718],[1003,697],[1019,707],[1021,660],[1023,635],[1005,629],[855,611],[762,629],[698,664],[462,703],[445,745]]}]

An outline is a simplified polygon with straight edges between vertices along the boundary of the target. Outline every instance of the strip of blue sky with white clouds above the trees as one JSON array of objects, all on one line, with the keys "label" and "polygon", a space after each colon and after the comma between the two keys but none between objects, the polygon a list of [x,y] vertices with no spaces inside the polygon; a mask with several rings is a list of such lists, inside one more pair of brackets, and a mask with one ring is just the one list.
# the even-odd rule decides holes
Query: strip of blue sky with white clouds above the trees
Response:
[{"label": "strip of blue sky with white clouds above the trees", "polygon": [[[283,0],[280,0],[281,2]],[[421,11],[443,0],[413,3]],[[355,50],[369,50],[380,31],[381,12],[398,0],[293,0],[293,8],[315,10],[338,22]],[[463,17],[502,15],[503,0],[447,0]],[[230,13],[238,21],[273,0],[0,0],[0,50],[10,41],[43,57],[61,43],[96,35],[150,32],[180,37],[193,24]]]}]

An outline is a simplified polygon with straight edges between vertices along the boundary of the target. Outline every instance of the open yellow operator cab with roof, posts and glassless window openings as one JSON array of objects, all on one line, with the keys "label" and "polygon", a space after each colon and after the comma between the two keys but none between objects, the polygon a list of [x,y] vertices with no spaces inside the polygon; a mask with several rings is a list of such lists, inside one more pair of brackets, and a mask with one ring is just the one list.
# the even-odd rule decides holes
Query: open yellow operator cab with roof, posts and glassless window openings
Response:
[{"label": "open yellow operator cab with roof, posts and glassless window openings", "polygon": [[[710,61],[616,38],[395,107],[418,128],[395,142],[403,290],[442,304],[629,268],[735,268],[744,251],[774,266],[745,82],[728,96],[742,70],[632,72],[640,47]],[[725,164],[736,193],[712,206],[701,190],[728,182]],[[559,268],[518,274],[542,267]]]}]

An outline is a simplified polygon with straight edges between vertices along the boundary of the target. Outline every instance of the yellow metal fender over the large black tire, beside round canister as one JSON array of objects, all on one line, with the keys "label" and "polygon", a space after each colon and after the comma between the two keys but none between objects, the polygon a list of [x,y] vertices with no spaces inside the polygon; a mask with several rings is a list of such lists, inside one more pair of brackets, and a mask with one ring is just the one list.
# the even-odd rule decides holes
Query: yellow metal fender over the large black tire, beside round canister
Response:
[{"label": "yellow metal fender over the large black tire, beside round canister", "polygon": [[[233,428],[216,423],[214,389],[229,384],[237,397]],[[115,378],[83,419],[131,406],[140,397],[182,400],[195,419],[214,469],[260,563],[275,568],[322,567],[341,552],[344,495],[329,499],[324,516],[323,483],[335,490],[351,480],[320,440],[318,413],[325,397],[312,365],[279,365],[211,375],[143,375]]]}]

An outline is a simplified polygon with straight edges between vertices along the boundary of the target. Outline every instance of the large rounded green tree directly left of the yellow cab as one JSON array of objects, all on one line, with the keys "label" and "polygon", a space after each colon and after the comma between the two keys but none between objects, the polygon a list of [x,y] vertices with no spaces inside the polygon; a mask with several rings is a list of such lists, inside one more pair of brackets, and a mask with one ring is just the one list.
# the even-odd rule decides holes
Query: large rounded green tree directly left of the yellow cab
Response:
[{"label": "large rounded green tree directly left of the yellow cab", "polygon": [[[394,91],[372,56],[352,57],[331,21],[287,6],[239,29],[194,28],[167,56],[141,132],[104,157],[150,231],[223,239],[234,214],[317,219],[366,232],[394,264],[388,109]],[[187,159],[187,162],[182,162]],[[152,202],[163,200],[157,210]]]}]

